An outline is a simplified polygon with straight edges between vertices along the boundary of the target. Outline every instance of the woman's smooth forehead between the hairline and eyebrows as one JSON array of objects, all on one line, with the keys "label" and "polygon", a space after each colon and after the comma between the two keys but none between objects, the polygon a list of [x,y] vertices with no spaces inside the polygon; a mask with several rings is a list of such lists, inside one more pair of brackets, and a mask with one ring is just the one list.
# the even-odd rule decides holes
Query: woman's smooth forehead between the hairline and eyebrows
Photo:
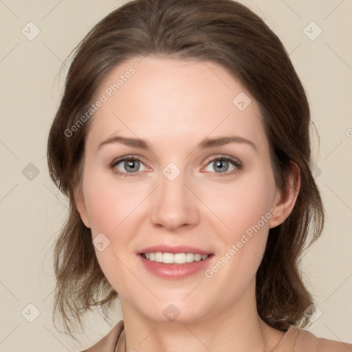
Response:
[{"label": "woman's smooth forehead between the hairline and eyebrows", "polygon": [[259,147],[265,143],[258,104],[216,63],[133,58],[110,72],[96,96],[104,102],[92,118],[87,142],[123,133],[151,144],[229,134]]}]

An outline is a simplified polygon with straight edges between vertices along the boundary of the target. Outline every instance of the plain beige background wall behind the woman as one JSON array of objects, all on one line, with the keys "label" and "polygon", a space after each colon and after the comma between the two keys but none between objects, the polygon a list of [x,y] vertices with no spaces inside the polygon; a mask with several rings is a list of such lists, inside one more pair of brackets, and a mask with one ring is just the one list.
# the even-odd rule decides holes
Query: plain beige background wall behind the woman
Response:
[{"label": "plain beige background wall behind the woman", "polygon": [[[308,329],[320,337],[352,342],[352,50],[348,39],[352,3],[242,2],[283,41],[307,89],[320,134],[320,151],[318,141],[315,147],[316,181],[327,222],[319,241],[303,258],[303,272],[322,316]],[[111,329],[98,315],[89,316],[91,329],[79,346],[52,324],[55,281],[50,246],[67,214],[67,201],[47,175],[45,145],[63,88],[64,76],[58,73],[64,59],[120,3],[0,1],[0,351],[79,351]],[[30,21],[41,31],[32,41],[21,32]],[[311,21],[322,30],[315,40],[304,32]],[[310,36],[318,33],[314,25],[307,30]],[[32,179],[28,179],[30,163],[39,170]],[[26,320],[35,314],[29,304],[40,311],[33,322]],[[117,312],[115,321],[120,318]]]}]

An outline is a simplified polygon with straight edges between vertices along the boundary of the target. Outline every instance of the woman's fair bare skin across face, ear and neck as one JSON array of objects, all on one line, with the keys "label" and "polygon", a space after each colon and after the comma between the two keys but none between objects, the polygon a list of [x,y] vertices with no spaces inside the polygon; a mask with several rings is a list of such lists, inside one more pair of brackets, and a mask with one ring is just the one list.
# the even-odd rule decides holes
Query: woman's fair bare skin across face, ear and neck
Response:
[{"label": "woman's fair bare skin across face, ear and neck", "polygon": [[[269,229],[294,207],[299,173],[294,167],[285,192],[278,190],[259,106],[220,65],[133,58],[115,67],[98,94],[131,66],[135,74],[91,120],[76,193],[92,237],[102,232],[110,241],[96,256],[120,295],[126,351],[173,352],[180,346],[184,352],[271,351],[284,333],[259,318],[255,274]],[[244,111],[232,102],[241,92],[252,100]],[[114,135],[139,137],[151,148],[121,143],[98,148]],[[244,137],[256,149],[246,143],[197,148],[206,137],[228,135]],[[139,173],[124,162],[109,167],[124,155],[140,156]],[[219,171],[210,159],[221,155],[243,167],[221,176],[236,169],[230,163]],[[181,171],[173,181],[162,173],[170,162]],[[151,245],[186,244],[212,252],[211,268],[271,208],[276,214],[212,278],[201,270],[180,280],[163,279],[137,260],[137,252]],[[180,313],[173,322],[163,314],[170,304]]]}]

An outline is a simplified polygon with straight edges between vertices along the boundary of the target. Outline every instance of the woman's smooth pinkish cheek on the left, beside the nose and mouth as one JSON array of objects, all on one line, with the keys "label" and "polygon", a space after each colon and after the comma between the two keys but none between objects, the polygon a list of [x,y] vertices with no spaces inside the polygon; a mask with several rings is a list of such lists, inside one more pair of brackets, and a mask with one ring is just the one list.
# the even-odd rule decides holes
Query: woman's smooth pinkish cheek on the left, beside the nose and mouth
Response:
[{"label": "woman's smooth pinkish cheek on the left, beside the nose and mouth", "polygon": [[111,286],[123,293],[126,282],[131,281],[124,263],[130,247],[133,209],[141,201],[141,192],[131,192],[133,187],[114,182],[103,173],[90,173],[83,187],[92,237],[102,233],[103,241],[109,243],[102,251],[95,248],[98,263]]}]

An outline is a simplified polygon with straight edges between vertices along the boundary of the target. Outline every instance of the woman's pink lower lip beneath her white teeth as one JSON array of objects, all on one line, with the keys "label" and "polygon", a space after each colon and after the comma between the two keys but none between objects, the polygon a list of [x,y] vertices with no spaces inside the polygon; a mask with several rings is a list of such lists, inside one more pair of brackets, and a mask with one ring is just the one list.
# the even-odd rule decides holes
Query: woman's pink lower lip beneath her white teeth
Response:
[{"label": "woman's pink lower lip beneath her white teeth", "polygon": [[144,267],[146,267],[146,269],[152,274],[155,274],[161,278],[178,280],[205,269],[214,255],[210,254],[207,259],[203,259],[202,261],[192,261],[192,263],[185,264],[159,263],[157,261],[148,261],[148,259],[145,259],[142,255],[138,256],[140,257]]}]

